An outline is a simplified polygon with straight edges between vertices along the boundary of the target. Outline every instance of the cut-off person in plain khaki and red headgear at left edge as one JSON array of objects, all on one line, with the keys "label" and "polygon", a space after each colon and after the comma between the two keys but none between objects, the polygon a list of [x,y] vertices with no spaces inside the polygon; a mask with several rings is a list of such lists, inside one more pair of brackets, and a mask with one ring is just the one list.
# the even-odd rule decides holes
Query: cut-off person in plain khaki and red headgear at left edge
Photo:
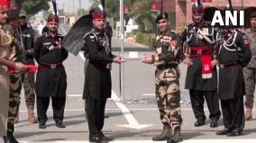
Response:
[{"label": "cut-off person in plain khaki and red headgear at left edge", "polygon": [[[10,1],[0,0],[0,138],[6,136],[7,118],[9,107],[9,76],[7,74],[7,67],[13,67],[16,70],[22,70],[24,65],[8,60],[9,48],[13,41],[12,37],[3,30],[6,23],[6,12],[9,8]],[[0,142],[2,139],[0,139]],[[6,141],[5,141],[6,142]]]}]

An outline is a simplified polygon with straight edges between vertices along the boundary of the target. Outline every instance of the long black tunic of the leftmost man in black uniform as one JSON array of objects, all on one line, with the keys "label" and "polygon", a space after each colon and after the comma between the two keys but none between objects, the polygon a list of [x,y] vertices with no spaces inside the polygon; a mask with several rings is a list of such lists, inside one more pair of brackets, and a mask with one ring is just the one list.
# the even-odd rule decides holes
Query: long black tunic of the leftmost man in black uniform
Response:
[{"label": "long black tunic of the leftmost man in black uniform", "polygon": [[[66,96],[67,75],[61,65],[68,58],[68,51],[53,45],[54,37],[48,32],[42,34],[35,42],[33,56],[39,63],[36,75],[35,92],[37,96]],[[56,68],[43,65],[57,64]]]}]

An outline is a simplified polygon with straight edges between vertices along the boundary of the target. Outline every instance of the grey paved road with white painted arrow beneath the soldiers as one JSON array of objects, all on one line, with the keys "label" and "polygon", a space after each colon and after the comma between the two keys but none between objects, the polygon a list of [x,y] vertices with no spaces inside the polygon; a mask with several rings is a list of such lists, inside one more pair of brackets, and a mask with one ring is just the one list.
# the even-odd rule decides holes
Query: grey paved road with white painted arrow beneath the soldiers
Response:
[{"label": "grey paved road with white painted arrow beneath the soldiers", "polygon": [[[64,27],[63,31],[67,31],[67,29]],[[117,43],[117,41],[114,42]],[[134,47],[138,48],[138,45],[134,45]],[[137,57],[132,53],[132,58],[129,58],[124,64],[124,101],[121,100],[123,97],[119,96],[119,66],[114,65],[112,70],[113,94],[106,104],[105,114],[109,118],[105,119],[104,132],[106,136],[114,138],[116,143],[151,142],[151,137],[158,135],[162,129],[154,97],[154,67],[140,62],[140,55],[145,52],[138,52],[139,56]],[[129,53],[127,55],[129,57]],[[69,83],[65,112],[67,128],[58,129],[55,127],[51,108],[48,112],[49,121],[47,122],[47,129],[39,130],[37,124],[28,123],[22,94],[20,122],[16,124],[15,133],[16,137],[22,142],[87,142],[87,120],[84,117],[84,101],[81,99],[84,83],[84,59],[80,55],[75,57],[69,54],[69,58],[64,62],[64,65],[67,70]],[[195,118],[191,111],[188,92],[184,89],[186,67],[181,65],[180,71],[183,118],[182,135],[184,143],[213,143],[216,141],[220,143],[256,142],[255,120],[247,121],[244,135],[236,138],[215,135],[216,130],[223,129],[222,121],[220,121],[220,126],[215,129],[209,128],[208,119],[205,126],[195,128],[193,126]],[[255,110],[253,110],[253,113],[256,115]],[[208,115],[207,110],[206,115]]]}]

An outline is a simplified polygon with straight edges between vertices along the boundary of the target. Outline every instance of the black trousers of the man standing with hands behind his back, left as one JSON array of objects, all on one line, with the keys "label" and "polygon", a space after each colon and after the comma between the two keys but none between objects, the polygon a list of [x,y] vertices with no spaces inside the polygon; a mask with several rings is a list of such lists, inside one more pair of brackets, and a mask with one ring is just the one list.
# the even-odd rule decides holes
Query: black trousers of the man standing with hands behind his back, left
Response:
[{"label": "black trousers of the man standing with hands behind his back, left", "polygon": [[50,98],[54,121],[63,121],[66,97],[36,97],[38,121],[46,122],[48,120],[46,112]]}]

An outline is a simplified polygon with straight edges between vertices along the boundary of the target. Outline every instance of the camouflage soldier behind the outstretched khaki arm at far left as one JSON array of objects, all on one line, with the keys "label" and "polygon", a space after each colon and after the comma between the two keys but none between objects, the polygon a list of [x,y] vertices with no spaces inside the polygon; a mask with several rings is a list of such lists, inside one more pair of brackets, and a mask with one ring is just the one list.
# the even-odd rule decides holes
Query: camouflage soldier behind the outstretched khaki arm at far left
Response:
[{"label": "camouflage soldier behind the outstretched khaki arm at far left", "polygon": [[[18,5],[11,3],[10,11],[8,13],[8,21],[5,24],[5,32],[9,33],[12,37],[13,42],[10,48],[9,60],[14,62],[24,63],[24,51],[21,46],[21,36],[18,32],[19,28],[19,8]],[[8,124],[7,124],[7,136],[5,137],[6,142],[17,143],[18,141],[14,138],[14,120],[17,116],[17,107],[20,99],[22,90],[22,73],[15,71],[9,73],[10,75],[10,101],[9,101],[9,113],[8,113]]]}]

